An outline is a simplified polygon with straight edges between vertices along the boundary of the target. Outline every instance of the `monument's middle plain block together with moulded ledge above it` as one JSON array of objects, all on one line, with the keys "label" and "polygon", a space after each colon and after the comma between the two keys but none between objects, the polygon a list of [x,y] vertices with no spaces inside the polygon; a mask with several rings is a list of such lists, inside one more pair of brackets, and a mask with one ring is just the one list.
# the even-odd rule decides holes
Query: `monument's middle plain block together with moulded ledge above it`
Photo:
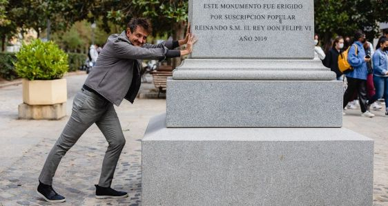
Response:
[{"label": "monument's middle plain block together with moulded ledge above it", "polygon": [[342,127],[342,82],[316,60],[187,59],[167,127]]}]

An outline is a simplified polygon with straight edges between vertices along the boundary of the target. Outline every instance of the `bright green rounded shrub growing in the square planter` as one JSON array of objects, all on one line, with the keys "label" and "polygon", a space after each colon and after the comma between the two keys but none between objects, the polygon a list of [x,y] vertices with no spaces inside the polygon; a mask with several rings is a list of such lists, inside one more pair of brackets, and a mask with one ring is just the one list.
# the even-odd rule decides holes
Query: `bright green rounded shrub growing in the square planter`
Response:
[{"label": "bright green rounded shrub growing in the square planter", "polygon": [[60,79],[68,71],[68,55],[53,41],[23,44],[16,54],[17,75],[29,80]]}]

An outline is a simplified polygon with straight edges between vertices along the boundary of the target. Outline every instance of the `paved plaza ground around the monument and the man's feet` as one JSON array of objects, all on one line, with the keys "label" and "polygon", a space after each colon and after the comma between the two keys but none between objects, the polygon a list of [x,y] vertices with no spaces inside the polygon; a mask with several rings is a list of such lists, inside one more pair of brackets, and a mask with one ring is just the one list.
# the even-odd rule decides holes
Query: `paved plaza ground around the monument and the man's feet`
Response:
[{"label": "paved plaza ground around the monument and the man's feet", "polygon": [[[0,205],[51,205],[36,194],[38,176],[52,145],[64,129],[72,99],[86,75],[68,79],[68,116],[58,121],[17,120],[21,85],[0,87]],[[153,84],[143,84],[143,91]],[[284,106],[287,106],[285,102]],[[319,107],[311,102],[312,107]],[[121,200],[95,199],[95,184],[108,143],[93,125],[66,154],[54,179],[54,188],[66,197],[60,205],[141,205],[142,144],[148,120],[166,112],[166,100],[124,101],[116,107],[126,137],[113,188],[128,191]],[[303,112],[303,111],[301,111]],[[388,205],[388,118],[373,111],[375,118],[362,118],[360,110],[347,110],[344,127],[366,135],[374,144],[374,205]],[[306,115],[309,115],[306,113]],[[351,192],[351,191],[350,191]]]}]

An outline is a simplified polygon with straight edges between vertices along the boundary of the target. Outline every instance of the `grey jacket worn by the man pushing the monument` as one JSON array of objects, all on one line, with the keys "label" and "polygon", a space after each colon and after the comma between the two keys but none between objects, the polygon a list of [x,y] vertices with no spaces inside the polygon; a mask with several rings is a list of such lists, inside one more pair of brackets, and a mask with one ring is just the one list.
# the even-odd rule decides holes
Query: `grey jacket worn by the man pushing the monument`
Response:
[{"label": "grey jacket worn by the man pushing the monument", "polygon": [[179,57],[179,50],[168,50],[173,45],[172,39],[168,39],[162,44],[138,47],[130,43],[125,31],[110,35],[85,85],[116,106],[124,98],[133,103],[140,88],[142,59],[164,59],[168,52],[168,57]]}]

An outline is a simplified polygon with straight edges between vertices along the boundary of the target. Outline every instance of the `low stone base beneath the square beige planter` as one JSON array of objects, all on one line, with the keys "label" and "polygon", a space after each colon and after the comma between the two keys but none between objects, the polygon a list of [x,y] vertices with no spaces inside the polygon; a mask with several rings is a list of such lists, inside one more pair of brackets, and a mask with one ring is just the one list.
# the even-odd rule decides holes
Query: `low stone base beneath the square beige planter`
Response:
[{"label": "low stone base beneath the square beige planter", "polygon": [[66,102],[53,105],[19,104],[19,119],[59,120],[66,116]]}]

